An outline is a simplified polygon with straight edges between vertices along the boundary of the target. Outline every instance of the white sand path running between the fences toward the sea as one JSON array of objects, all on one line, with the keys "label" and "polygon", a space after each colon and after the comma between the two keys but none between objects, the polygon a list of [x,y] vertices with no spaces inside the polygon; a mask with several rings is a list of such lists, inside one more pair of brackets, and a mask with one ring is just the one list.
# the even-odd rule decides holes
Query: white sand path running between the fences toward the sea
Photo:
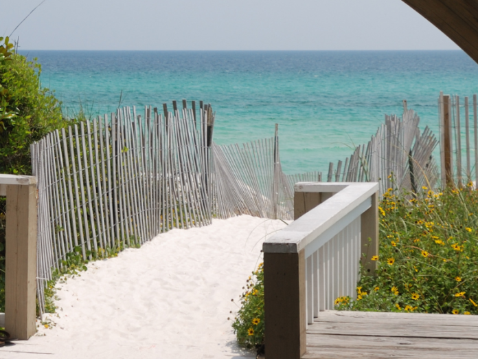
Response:
[{"label": "white sand path running between the fences toward the sea", "polygon": [[215,219],[89,263],[57,285],[56,325],[0,348],[0,358],[255,358],[236,345],[231,320],[264,236],[284,226]]}]

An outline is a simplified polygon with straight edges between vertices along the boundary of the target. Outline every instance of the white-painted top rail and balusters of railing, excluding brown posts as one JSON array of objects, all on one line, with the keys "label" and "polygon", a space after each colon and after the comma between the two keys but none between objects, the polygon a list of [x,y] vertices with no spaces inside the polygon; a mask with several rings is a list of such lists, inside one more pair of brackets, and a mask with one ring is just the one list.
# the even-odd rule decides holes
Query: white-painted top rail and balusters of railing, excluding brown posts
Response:
[{"label": "white-painted top rail and balusters of railing, excluding brown posts", "polygon": [[[306,258],[306,323],[334,309],[341,296],[356,298],[361,259],[361,215],[372,206],[377,183],[299,183],[296,192],[334,195],[264,242],[264,252]],[[324,197],[324,196],[323,196]]]}]

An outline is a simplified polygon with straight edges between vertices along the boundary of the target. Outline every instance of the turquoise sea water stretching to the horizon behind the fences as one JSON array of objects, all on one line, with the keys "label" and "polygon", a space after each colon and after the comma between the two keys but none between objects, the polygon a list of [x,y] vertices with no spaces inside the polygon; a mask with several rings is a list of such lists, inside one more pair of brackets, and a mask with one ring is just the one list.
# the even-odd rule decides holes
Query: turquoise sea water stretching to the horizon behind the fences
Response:
[{"label": "turquoise sea water stretching to the horizon behind the fences", "polygon": [[365,143],[402,100],[437,134],[437,98],[478,93],[478,65],[461,51],[58,52],[23,51],[65,111],[204,100],[219,144],[273,136],[286,173],[326,171]]}]

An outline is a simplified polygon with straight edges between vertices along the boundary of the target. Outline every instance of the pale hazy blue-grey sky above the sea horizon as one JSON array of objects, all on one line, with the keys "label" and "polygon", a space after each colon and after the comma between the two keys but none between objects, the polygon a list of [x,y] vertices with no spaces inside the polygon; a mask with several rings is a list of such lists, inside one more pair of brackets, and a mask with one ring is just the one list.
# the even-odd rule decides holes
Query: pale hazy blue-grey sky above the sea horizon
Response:
[{"label": "pale hazy blue-grey sky above the sea horizon", "polygon": [[[41,0],[0,0],[0,36]],[[452,50],[401,0],[46,0],[21,50]]]}]

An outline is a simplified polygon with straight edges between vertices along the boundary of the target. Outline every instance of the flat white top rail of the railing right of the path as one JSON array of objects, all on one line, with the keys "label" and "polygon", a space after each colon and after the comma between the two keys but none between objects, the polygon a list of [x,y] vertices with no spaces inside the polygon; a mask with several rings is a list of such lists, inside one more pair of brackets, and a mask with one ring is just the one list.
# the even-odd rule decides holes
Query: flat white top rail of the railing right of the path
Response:
[{"label": "flat white top rail of the railing right of the path", "polygon": [[[262,246],[269,253],[298,253],[326,230],[337,224],[353,210],[360,209],[378,191],[378,183],[317,183],[299,182],[296,192],[335,193],[320,206],[310,210],[296,221],[266,240]],[[369,204],[367,208],[369,208]],[[361,212],[367,208],[363,208]]]}]

